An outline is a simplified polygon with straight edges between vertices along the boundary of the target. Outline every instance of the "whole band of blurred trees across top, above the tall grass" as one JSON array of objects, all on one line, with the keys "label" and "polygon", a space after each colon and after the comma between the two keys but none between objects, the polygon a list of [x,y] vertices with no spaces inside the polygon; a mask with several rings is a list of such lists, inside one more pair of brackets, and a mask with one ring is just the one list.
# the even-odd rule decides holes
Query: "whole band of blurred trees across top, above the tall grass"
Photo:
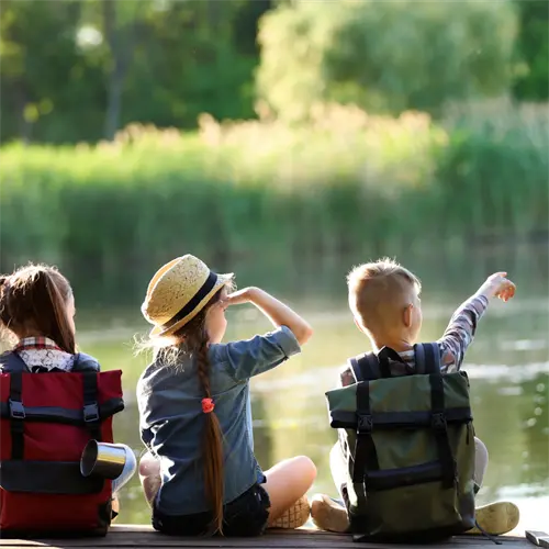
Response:
[{"label": "whole band of blurred trees across top, above the tall grass", "polygon": [[547,2],[456,5],[3,0],[0,142],[96,142],[132,122],[189,128],[202,112],[250,119],[258,98],[290,120],[316,100],[439,114],[509,82],[546,99]]}]

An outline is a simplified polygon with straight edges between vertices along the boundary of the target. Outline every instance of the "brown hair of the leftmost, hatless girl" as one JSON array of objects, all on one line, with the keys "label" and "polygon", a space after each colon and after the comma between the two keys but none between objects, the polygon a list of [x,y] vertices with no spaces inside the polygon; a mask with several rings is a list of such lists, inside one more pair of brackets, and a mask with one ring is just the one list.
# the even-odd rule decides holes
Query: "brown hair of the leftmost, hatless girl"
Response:
[{"label": "brown hair of the leftmost, hatless girl", "polygon": [[55,267],[22,267],[0,276],[0,324],[18,337],[30,334],[53,339],[74,355],[75,332],[67,317],[71,295],[68,280]]}]

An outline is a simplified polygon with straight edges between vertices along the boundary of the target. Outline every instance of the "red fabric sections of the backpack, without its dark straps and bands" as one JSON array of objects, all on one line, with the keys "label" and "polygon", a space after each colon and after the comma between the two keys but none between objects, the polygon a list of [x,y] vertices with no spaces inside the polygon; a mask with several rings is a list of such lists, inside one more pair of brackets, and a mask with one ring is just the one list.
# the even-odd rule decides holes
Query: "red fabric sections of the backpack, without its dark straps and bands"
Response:
[{"label": "red fabric sections of the backpack, without its dark straps and bands", "polygon": [[[122,397],[122,372],[98,373],[99,403]],[[0,374],[0,402],[8,403],[10,374]],[[24,406],[56,406],[82,410],[81,373],[24,373]],[[112,417],[101,425],[102,440],[113,441]],[[58,423],[24,423],[24,460],[80,461],[91,434],[86,427]],[[0,418],[0,461],[11,459],[10,421]],[[100,526],[99,508],[112,497],[111,481],[98,494],[49,495],[7,492],[0,488],[0,531],[93,530]]]}]

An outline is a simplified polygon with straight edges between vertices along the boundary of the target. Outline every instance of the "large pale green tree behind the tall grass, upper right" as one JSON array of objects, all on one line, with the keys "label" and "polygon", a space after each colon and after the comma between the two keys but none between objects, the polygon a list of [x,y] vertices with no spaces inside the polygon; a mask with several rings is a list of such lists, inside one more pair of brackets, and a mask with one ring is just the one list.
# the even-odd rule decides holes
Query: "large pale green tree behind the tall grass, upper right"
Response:
[{"label": "large pale green tree behind the tall grass, upper right", "polygon": [[436,114],[508,88],[515,34],[508,0],[301,0],[261,21],[258,93],[289,120],[324,101]]}]

